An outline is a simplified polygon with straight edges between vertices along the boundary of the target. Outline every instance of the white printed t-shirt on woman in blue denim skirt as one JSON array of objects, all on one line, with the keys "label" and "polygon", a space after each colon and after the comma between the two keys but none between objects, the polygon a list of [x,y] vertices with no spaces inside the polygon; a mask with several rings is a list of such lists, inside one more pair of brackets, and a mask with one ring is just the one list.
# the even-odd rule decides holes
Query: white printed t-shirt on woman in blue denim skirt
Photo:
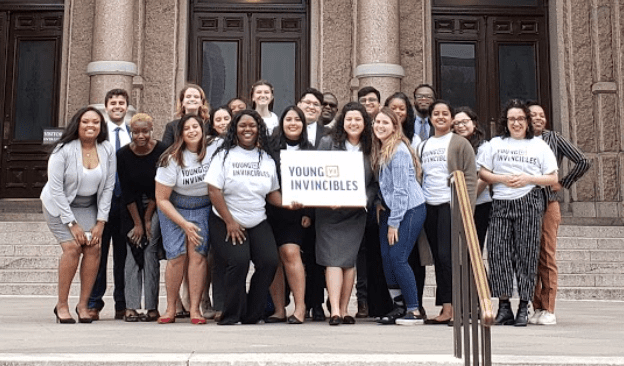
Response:
[{"label": "white printed t-shirt on woman in blue denim skirt", "polygon": [[184,150],[182,160],[184,168],[180,167],[175,160],[169,159],[166,167],[159,167],[156,171],[156,181],[167,187],[172,187],[176,193],[185,196],[206,196],[208,186],[204,182],[206,172],[210,166],[210,159],[217,147],[223,140],[217,139],[206,147],[206,156],[201,162],[197,161],[197,154]]}]

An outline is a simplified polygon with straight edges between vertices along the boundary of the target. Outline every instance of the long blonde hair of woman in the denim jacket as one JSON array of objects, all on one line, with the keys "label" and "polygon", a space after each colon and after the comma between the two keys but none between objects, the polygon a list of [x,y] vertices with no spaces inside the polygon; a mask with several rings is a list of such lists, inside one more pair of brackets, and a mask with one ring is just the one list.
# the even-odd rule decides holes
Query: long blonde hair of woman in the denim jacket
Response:
[{"label": "long blonde hair of woman in the denim jacket", "polygon": [[[389,107],[381,108],[377,116],[379,116],[380,114],[383,114],[390,118],[390,121],[392,121],[392,125],[394,126],[394,133],[383,142],[373,133],[373,147],[371,152],[371,165],[373,166],[373,170],[376,174],[379,174],[379,170],[387,166],[388,163],[390,163],[390,161],[394,157],[394,154],[396,153],[399,144],[405,143],[405,146],[412,156],[412,162],[414,163],[416,177],[420,177],[422,171],[420,167],[420,162],[416,158],[416,154],[414,153],[414,150],[412,149],[409,140],[403,134],[403,128],[399,123],[399,117]],[[376,118],[377,117],[375,117],[375,119]]]}]

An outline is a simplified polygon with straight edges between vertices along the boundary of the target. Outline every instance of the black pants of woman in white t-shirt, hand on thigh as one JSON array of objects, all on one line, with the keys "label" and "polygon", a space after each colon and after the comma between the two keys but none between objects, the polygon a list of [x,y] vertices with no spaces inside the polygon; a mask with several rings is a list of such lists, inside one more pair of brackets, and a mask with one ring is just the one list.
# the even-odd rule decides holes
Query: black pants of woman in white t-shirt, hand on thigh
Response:
[{"label": "black pants of woman in white t-shirt, hand on thigh", "polygon": [[[257,323],[264,315],[269,286],[279,263],[271,226],[264,220],[245,230],[242,244],[233,245],[231,239],[225,241],[225,222],[213,213],[209,220],[210,244],[215,258],[225,262],[223,319],[219,324]],[[250,260],[254,264],[254,274],[247,293],[245,281]]]}]

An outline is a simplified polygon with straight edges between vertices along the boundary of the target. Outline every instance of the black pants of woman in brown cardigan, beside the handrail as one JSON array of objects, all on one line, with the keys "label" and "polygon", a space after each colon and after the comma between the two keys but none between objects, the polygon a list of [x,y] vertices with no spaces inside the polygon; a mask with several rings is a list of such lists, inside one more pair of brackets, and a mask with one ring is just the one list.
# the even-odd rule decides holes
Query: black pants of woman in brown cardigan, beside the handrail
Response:
[{"label": "black pants of woman in brown cardigan, beside the handrail", "polygon": [[453,263],[451,261],[451,205],[427,204],[425,231],[431,246],[436,272],[436,305],[453,301]]}]

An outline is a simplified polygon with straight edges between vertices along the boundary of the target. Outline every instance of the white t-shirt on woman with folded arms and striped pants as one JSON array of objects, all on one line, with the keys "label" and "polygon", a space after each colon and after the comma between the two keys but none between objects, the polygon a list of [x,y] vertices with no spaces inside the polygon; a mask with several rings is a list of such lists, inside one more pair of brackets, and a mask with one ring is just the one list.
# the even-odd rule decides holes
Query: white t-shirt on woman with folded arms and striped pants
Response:
[{"label": "white t-shirt on woman with folded arms and striped pants", "polygon": [[[501,175],[525,173],[537,176],[558,170],[555,154],[548,144],[536,138],[516,140],[511,137],[495,137],[489,144],[481,146],[477,164]],[[503,183],[496,183],[492,190],[494,199],[515,200],[525,196],[534,187],[534,184],[527,184],[522,188],[509,188]]]}]

